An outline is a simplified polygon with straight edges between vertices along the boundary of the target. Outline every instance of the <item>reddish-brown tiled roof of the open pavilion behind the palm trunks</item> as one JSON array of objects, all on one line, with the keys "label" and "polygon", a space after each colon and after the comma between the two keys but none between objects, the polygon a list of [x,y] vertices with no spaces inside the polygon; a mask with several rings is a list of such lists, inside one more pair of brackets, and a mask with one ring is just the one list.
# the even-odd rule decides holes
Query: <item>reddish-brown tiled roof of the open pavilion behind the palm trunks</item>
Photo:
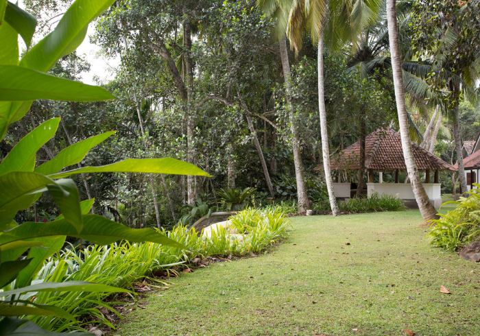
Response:
[{"label": "reddish-brown tiled roof of the open pavilion behind the palm trunks", "polygon": [[[431,154],[416,143],[411,143],[413,157],[418,170],[448,170],[455,168],[444,160]],[[480,152],[479,152],[480,153]],[[333,170],[358,170],[360,168],[360,141],[357,141],[342,152],[333,156],[331,169]],[[392,128],[379,128],[366,137],[365,168],[375,171],[407,170],[403,158],[402,141],[400,134]]]}]

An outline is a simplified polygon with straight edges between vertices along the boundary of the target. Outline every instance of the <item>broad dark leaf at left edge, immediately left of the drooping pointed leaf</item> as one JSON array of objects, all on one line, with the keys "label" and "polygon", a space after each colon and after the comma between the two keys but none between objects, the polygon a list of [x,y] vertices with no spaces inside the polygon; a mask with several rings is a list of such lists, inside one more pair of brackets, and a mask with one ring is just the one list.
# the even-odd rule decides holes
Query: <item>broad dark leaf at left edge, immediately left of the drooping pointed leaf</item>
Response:
[{"label": "broad dark leaf at left edge, immediately left of the drooping pointed leaf", "polygon": [[36,199],[32,194],[55,182],[30,171],[10,171],[0,175],[0,232],[11,223],[17,211],[28,208]]}]

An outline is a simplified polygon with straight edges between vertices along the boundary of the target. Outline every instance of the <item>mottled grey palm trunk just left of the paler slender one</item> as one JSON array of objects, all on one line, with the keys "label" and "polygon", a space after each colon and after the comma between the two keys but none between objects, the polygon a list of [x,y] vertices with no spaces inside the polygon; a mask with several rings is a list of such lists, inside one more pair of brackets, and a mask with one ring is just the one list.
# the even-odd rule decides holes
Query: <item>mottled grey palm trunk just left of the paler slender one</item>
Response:
[{"label": "mottled grey palm trunk just left of the paler slender one", "polygon": [[298,139],[298,131],[296,121],[293,115],[293,104],[291,104],[291,74],[290,64],[287,53],[287,42],[285,38],[280,39],[280,58],[282,60],[283,78],[285,79],[285,87],[287,88],[287,105],[289,109],[290,132],[291,132],[291,149],[293,152],[293,165],[295,166],[295,176],[297,180],[297,199],[298,211],[301,213],[309,210],[309,197],[307,196],[307,188],[303,178],[302,155],[300,153],[300,140]]}]

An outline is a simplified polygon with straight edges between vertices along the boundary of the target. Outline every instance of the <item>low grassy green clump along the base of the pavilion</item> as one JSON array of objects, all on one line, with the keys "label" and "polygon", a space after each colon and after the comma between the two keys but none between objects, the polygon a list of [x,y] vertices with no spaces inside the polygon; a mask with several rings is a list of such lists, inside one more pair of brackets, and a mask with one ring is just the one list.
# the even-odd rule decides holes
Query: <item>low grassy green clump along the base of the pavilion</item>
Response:
[{"label": "low grassy green clump along the base of the pavilion", "polygon": [[[350,213],[378,213],[381,211],[405,211],[405,201],[392,195],[374,193],[370,197],[350,198],[348,201],[338,202],[340,211]],[[331,211],[329,203],[315,204],[314,210]]]}]

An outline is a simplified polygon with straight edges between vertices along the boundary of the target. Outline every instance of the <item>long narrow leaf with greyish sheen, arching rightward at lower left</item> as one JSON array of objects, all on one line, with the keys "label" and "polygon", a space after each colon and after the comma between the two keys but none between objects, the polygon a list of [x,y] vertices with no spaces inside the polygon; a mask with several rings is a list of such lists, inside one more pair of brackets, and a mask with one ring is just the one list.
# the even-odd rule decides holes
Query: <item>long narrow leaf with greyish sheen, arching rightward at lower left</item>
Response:
[{"label": "long narrow leaf with greyish sheen, arching rightward at lower left", "polygon": [[65,281],[64,283],[38,283],[32,286],[12,289],[11,291],[0,291],[0,298],[5,298],[5,296],[11,296],[13,294],[27,293],[30,291],[95,291],[99,293],[132,293],[132,291],[129,291],[128,289],[102,285],[99,283],[89,283],[87,281]]}]

